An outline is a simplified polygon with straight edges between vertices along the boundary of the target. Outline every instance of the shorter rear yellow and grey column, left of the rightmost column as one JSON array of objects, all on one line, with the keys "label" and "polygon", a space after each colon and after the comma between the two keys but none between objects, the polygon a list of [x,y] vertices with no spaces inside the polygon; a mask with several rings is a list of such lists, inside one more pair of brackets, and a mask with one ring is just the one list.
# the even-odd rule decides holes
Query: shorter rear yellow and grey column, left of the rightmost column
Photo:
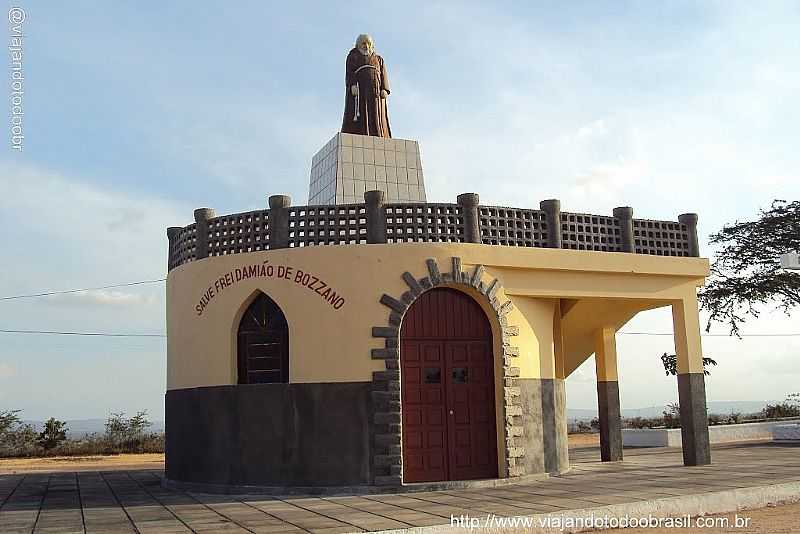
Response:
[{"label": "shorter rear yellow and grey column, left of the rightmost column", "polygon": [[622,460],[622,418],[617,380],[617,342],[614,328],[595,332],[594,362],[597,374],[597,411],[600,418],[600,458]]}]

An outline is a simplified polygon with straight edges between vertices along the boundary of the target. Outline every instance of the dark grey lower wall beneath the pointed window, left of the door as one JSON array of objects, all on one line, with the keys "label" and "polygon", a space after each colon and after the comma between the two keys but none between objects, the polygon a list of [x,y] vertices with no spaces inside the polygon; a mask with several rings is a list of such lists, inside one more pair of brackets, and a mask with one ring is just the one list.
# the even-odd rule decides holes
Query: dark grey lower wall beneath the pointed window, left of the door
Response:
[{"label": "dark grey lower wall beneath the pointed window, left of the door", "polygon": [[261,486],[372,483],[371,382],[166,394],[166,478]]}]

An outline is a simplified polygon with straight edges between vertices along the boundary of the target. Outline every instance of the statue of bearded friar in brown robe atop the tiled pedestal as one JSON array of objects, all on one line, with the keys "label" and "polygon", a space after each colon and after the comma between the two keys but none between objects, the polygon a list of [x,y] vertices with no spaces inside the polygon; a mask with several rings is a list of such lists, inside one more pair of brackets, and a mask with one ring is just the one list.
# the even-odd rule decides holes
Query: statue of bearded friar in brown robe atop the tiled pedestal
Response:
[{"label": "statue of bearded friar in brown robe atop the tiled pedestal", "polygon": [[391,137],[386,97],[389,79],[383,58],[375,53],[369,35],[359,35],[347,54],[342,132]]}]

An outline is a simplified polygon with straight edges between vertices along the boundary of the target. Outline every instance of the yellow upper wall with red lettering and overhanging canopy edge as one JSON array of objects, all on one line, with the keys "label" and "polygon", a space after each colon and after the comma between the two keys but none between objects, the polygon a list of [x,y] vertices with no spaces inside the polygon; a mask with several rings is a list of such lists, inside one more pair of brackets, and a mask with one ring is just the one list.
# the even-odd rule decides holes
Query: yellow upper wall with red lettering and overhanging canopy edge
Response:
[{"label": "yellow upper wall with red lettering and overhanging canopy edge", "polygon": [[[572,325],[570,313],[591,316],[586,307],[602,303],[603,314],[595,314],[595,322],[618,328],[631,312],[694,294],[708,272],[707,260],[699,258],[465,243],[337,245],[206,258],[172,270],[167,279],[167,389],[236,383],[238,322],[259,290],[286,315],[290,382],[372,380],[373,371],[385,369],[383,361],[370,358],[370,349],[383,346],[371,329],[388,322],[389,309],[380,304],[381,295],[399,298],[408,290],[401,278],[404,271],[418,279],[427,276],[428,258],[449,272],[453,256],[461,258],[468,272],[484,265],[484,283],[496,277],[503,284],[498,298],[514,304],[508,323],[519,327],[511,342],[520,349],[515,365],[522,378],[561,377],[577,367],[575,360],[591,354],[584,354],[586,347],[580,343],[581,336],[591,338],[591,333],[583,332],[580,321]],[[271,267],[273,274],[235,281],[237,268],[251,267]],[[283,277],[278,276],[280,268]],[[323,297],[324,290],[309,289],[302,279],[298,283],[298,271],[309,274],[307,280],[318,278],[318,290],[324,282],[343,297],[339,309]],[[220,278],[227,273],[234,273],[233,283],[222,284]],[[207,295],[202,306],[209,288],[213,297]],[[615,300],[634,304],[616,313]],[[580,306],[565,311],[565,302]],[[482,306],[491,312],[485,302]],[[500,353],[501,340],[495,338],[495,351]]]}]

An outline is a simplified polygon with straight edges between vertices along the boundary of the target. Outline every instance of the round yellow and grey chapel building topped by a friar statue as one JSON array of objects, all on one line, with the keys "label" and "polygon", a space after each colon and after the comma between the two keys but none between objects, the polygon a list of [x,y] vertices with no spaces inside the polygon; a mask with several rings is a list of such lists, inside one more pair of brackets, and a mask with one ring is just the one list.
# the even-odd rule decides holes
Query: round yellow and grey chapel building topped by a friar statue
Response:
[{"label": "round yellow and grey chapel building topped by a friar statue", "polygon": [[621,460],[615,334],[659,307],[684,462],[709,463],[697,216],[427,202],[376,56],[368,36],[348,55],[342,131],[312,160],[308,204],[200,208],[167,230],[166,483],[383,491],[558,474],[564,380],[592,355],[601,456]]}]

